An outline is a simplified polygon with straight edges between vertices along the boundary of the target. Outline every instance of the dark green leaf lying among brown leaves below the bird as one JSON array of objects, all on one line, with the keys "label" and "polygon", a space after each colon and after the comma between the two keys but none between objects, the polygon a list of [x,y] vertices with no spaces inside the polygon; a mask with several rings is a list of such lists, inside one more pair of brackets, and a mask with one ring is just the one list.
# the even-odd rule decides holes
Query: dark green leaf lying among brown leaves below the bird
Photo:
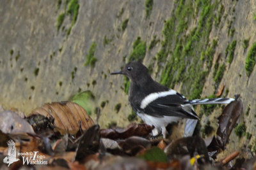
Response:
[{"label": "dark green leaf lying among brown leaves below the bird", "polygon": [[150,148],[150,150],[147,150],[144,155],[139,157],[152,162],[167,162],[166,154],[156,146]]}]

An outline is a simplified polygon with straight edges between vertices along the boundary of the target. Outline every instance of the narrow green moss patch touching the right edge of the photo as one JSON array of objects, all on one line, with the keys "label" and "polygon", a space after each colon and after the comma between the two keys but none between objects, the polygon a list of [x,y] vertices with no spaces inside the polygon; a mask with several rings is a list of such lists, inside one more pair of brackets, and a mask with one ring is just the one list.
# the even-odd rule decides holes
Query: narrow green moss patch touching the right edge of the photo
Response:
[{"label": "narrow green moss patch touching the right edge of the photo", "polygon": [[253,43],[245,60],[245,70],[246,70],[247,76],[250,76],[250,74],[252,73],[255,63],[256,63],[256,42]]}]

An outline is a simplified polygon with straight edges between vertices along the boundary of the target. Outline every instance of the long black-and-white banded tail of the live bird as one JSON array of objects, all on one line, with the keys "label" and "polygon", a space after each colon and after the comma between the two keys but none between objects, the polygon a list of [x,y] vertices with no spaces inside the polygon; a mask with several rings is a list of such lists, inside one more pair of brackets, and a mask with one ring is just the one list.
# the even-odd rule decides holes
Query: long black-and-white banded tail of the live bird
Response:
[{"label": "long black-and-white banded tail of the live bird", "polygon": [[212,98],[212,99],[195,99],[189,101],[189,104],[228,104],[235,101],[233,98]]}]

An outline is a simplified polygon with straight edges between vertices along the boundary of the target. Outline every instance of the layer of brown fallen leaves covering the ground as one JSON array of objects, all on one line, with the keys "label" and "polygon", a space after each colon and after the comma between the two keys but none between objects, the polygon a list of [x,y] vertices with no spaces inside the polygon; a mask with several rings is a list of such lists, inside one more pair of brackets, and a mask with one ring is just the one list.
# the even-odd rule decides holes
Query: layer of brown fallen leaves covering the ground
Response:
[{"label": "layer of brown fallen leaves covering the ground", "polygon": [[[77,107],[78,104],[67,102],[46,104],[27,118],[1,111],[0,157],[7,154],[6,141],[13,139],[17,152],[38,152],[47,165],[23,165],[22,155],[18,155],[20,161],[13,162],[10,169],[250,169],[255,164],[253,158],[236,159],[236,150],[216,160],[243,113],[238,97],[223,109],[216,135],[208,139],[199,134],[152,139],[150,132],[154,127],[147,124],[100,129],[83,108]],[[4,119],[6,115],[8,121]],[[235,160],[234,166],[227,166]],[[7,168],[3,163],[0,167]]]}]

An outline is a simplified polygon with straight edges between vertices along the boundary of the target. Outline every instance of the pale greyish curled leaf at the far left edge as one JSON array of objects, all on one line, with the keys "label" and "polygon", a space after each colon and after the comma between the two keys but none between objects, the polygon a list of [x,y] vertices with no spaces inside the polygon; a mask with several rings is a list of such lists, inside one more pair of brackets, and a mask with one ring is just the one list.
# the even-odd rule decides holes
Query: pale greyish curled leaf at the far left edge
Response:
[{"label": "pale greyish curled leaf at the far left edge", "polygon": [[18,132],[35,134],[31,125],[13,111],[0,113],[0,130],[6,134]]}]

